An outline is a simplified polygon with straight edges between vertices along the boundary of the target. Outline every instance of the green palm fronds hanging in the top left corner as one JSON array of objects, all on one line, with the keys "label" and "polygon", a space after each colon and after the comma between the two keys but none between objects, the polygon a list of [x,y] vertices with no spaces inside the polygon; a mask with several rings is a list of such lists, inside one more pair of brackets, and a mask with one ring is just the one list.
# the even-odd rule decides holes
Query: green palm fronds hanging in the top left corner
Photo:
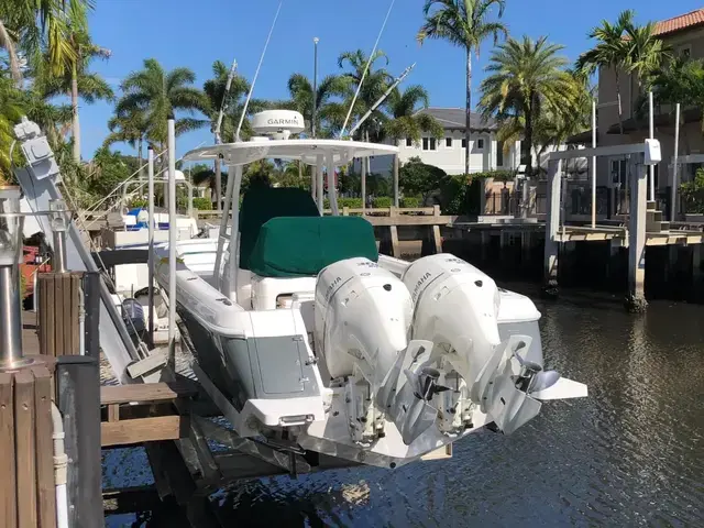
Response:
[{"label": "green palm fronds hanging in the top left corner", "polygon": [[16,86],[22,86],[19,50],[23,47],[34,62],[41,62],[46,42],[48,65],[63,75],[66,65],[76,61],[69,45],[72,32],[87,31],[87,12],[94,0],[2,0],[0,2],[0,48],[8,52],[10,70]]}]

